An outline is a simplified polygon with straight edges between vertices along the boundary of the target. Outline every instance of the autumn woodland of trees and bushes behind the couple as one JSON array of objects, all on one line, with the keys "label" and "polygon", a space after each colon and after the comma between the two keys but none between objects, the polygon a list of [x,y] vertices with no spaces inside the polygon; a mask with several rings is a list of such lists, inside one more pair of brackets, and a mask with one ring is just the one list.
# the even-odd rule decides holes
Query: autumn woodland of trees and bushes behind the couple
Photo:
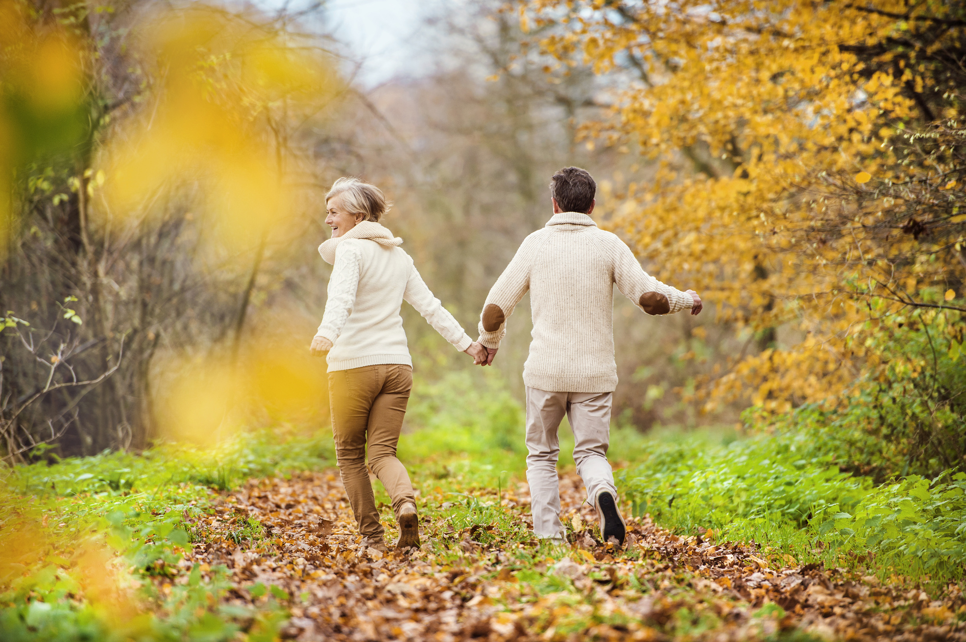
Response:
[{"label": "autumn woodland of trees and bushes behind the couple", "polygon": [[[759,471],[775,492],[786,473],[801,487],[800,461],[864,493],[924,483],[928,508],[885,540],[894,511],[875,501],[898,494],[866,513],[821,495],[839,507],[822,516],[808,495],[788,532],[813,529],[809,550],[823,528],[842,551],[886,546],[899,566],[879,570],[919,555],[912,575],[959,576],[966,527],[959,513],[939,524],[951,505],[936,497],[961,501],[951,480],[966,458],[966,5],[486,0],[427,21],[432,70],[376,87],[355,79],[325,3],[293,7],[0,0],[11,479],[170,443],[220,452],[264,430],[323,439],[325,366],[307,348],[332,181],[383,188],[385,225],[473,334],[497,275],[550,216],[550,176],[577,165],[598,181],[599,224],[705,301],[697,318],[652,318],[615,298],[614,452],[639,466],[622,482],[634,511],[661,497],[671,512],[682,461],[722,472],[747,447],[733,470],[788,464]],[[485,455],[443,427],[514,453],[526,299],[496,372],[403,316],[407,430],[470,462]],[[639,445],[668,432],[745,445],[707,455],[701,436],[685,459]],[[646,461],[667,475],[648,477]],[[202,485],[274,470],[226,465]],[[689,479],[725,510],[730,482]],[[711,519],[674,515],[672,528]],[[715,515],[755,537],[753,522]],[[910,544],[923,528],[928,554]],[[869,565],[873,553],[860,551]]]}]

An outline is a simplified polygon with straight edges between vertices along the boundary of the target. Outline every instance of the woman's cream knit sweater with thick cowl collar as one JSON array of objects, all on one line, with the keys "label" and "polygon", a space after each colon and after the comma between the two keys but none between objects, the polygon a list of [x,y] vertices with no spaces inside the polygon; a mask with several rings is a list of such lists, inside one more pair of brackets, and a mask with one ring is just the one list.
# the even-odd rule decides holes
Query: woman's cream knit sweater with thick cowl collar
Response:
[{"label": "woman's cream knit sweater with thick cowl collar", "polygon": [[332,342],[328,372],[380,363],[412,366],[399,316],[404,300],[456,349],[472,343],[426,287],[410,255],[398,247],[402,242],[379,223],[362,221],[319,246],[322,258],[334,265],[326,312],[316,332]]}]

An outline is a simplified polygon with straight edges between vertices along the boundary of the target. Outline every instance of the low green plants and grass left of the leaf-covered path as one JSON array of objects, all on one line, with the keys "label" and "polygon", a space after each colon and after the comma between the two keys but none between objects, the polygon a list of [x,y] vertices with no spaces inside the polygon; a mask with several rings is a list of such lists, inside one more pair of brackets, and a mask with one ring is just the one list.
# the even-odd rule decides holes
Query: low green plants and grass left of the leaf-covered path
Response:
[{"label": "low green plants and grass left of the leaf-covered path", "polygon": [[[259,609],[211,600],[231,588],[224,569],[195,567],[168,594],[152,579],[174,574],[196,537],[185,516],[208,513],[217,490],[333,463],[330,437],[276,429],[207,450],[165,444],[16,466],[0,488],[0,639],[220,640],[241,628],[274,639],[286,617],[277,600]],[[232,537],[257,541],[261,524],[249,519]],[[111,574],[127,593],[105,588]]]}]

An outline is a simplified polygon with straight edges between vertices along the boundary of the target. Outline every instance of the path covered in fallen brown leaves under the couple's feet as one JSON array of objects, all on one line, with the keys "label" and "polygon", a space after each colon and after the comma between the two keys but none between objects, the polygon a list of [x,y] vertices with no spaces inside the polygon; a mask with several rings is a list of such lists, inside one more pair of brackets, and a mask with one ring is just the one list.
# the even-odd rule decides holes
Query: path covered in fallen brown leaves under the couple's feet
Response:
[{"label": "path covered in fallen brown leaves under the couple's feet", "polygon": [[[531,539],[526,485],[422,484],[423,545],[384,555],[356,535],[337,471],[250,480],[209,516],[174,579],[229,569],[227,605],[286,604],[298,640],[966,640],[966,600],[767,556],[713,532],[632,520],[624,550],[596,537],[574,473],[561,478],[573,544]],[[387,544],[396,535],[383,506]]]}]

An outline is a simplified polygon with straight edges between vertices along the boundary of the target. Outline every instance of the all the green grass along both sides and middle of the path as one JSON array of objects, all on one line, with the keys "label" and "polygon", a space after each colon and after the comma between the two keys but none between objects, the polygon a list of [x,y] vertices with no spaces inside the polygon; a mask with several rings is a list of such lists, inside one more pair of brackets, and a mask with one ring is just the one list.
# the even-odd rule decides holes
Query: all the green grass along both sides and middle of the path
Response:
[{"label": "all the green grass along both sides and middle of the path", "polygon": [[[188,543],[201,537],[185,528],[185,516],[210,512],[217,491],[249,477],[334,465],[326,433],[240,433],[214,449],[166,444],[139,455],[103,453],[10,470],[0,487],[0,639],[226,640],[242,628],[247,639],[272,639],[285,618],[284,600],[267,593],[255,609],[218,605],[210,596],[230,589],[223,569],[194,568],[167,593],[158,586],[184,576],[173,569]],[[523,408],[494,373],[417,384],[399,455],[420,491],[421,511],[432,517],[426,541],[437,563],[452,568],[464,564],[461,543],[497,544],[529,592],[522,600],[562,592],[586,611],[574,627],[586,618],[603,622],[607,616],[572,582],[550,571],[573,551],[537,544],[521,518],[526,507],[504,504],[512,480],[525,473],[523,436]],[[823,562],[883,577],[940,582],[962,576],[966,475],[951,471],[931,481],[909,477],[875,486],[839,471],[806,440],[795,434],[738,438],[726,430],[645,436],[615,428],[609,456],[629,462],[616,478],[633,512],[649,513],[674,532],[711,529],[715,539],[753,541],[762,556],[789,564],[786,555],[797,564]],[[560,448],[561,468],[572,467],[566,423]],[[376,486],[391,528],[388,497]],[[270,536],[248,519],[229,539],[259,546]],[[127,593],[99,588],[105,569]],[[620,581],[649,590],[637,577]],[[674,627],[682,635],[716,626],[708,604],[684,593],[680,599]]]}]

